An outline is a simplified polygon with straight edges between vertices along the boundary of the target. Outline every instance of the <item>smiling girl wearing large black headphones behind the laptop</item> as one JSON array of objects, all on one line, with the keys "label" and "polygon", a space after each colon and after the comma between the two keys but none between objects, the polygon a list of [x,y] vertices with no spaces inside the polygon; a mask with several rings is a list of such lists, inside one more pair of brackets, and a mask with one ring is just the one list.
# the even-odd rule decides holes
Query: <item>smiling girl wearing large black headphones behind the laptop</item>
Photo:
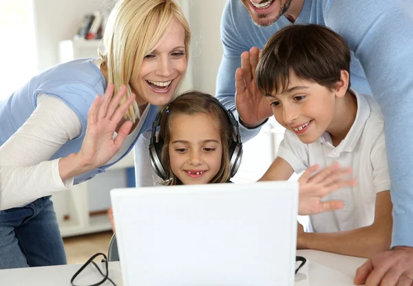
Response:
[{"label": "smiling girl wearing large black headphones behind the laptop", "polygon": [[149,155],[165,185],[226,183],[242,157],[237,121],[209,94],[189,91],[158,113]]}]

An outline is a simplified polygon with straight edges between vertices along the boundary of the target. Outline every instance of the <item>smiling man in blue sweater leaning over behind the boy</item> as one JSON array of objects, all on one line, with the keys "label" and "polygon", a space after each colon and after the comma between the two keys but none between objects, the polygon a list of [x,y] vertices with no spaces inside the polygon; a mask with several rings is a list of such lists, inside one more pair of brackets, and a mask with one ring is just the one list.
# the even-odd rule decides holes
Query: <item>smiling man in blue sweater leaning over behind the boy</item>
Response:
[{"label": "smiling man in blue sweater leaning over behind the boy", "polygon": [[385,118],[385,140],[391,146],[393,248],[363,265],[354,282],[411,285],[413,177],[408,173],[413,168],[413,132],[406,126],[413,125],[413,2],[228,0],[221,22],[224,55],[217,98],[227,108],[236,109],[244,142],[257,135],[273,114],[255,85],[259,50],[275,32],[294,23],[326,25],[343,37],[351,51],[352,87],[359,94],[374,96]]}]

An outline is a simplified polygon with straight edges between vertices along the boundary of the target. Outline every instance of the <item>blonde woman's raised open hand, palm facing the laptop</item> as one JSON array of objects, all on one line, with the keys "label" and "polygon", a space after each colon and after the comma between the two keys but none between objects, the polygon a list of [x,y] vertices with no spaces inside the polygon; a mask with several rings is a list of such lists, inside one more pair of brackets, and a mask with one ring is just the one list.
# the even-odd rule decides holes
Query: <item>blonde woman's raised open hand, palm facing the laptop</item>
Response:
[{"label": "blonde woman's raised open hand, palm facing the laptop", "polygon": [[119,151],[132,127],[131,121],[123,122],[118,135],[113,139],[123,115],[135,100],[135,95],[131,94],[123,104],[119,105],[126,94],[125,85],[120,88],[116,96],[113,94],[114,85],[109,84],[103,99],[99,94],[89,109],[85,139],[81,151],[76,154],[81,160],[81,166],[89,170],[105,165]]}]

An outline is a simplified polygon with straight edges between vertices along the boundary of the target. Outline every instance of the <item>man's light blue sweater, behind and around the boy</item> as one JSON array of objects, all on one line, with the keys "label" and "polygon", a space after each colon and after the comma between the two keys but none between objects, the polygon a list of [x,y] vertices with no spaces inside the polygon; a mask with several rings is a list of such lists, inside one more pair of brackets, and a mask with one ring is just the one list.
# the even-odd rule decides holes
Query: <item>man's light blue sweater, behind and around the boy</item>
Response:
[{"label": "man's light blue sweater, behind and around the boy", "polygon": [[[413,1],[306,0],[295,23],[326,25],[350,46],[352,88],[372,94],[385,116],[394,204],[392,246],[413,247]],[[240,0],[226,3],[221,22],[224,55],[216,88],[226,107],[235,111],[235,70],[241,66],[242,52],[254,46],[262,49],[286,25],[291,23],[282,16],[269,27],[257,27]],[[240,126],[240,131],[246,141],[260,128]]]}]

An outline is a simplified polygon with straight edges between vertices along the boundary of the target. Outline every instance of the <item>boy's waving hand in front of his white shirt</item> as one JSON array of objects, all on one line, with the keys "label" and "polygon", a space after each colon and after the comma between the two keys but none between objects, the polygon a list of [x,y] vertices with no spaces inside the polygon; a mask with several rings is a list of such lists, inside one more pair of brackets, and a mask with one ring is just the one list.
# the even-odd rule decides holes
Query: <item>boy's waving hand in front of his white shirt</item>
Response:
[{"label": "boy's waving hand in front of his white shirt", "polygon": [[352,173],[351,168],[341,168],[339,163],[334,163],[319,173],[314,173],[319,165],[311,166],[299,178],[299,204],[298,214],[317,214],[328,210],[340,210],[344,207],[343,201],[321,201],[328,193],[355,186],[357,179],[343,179]]}]

